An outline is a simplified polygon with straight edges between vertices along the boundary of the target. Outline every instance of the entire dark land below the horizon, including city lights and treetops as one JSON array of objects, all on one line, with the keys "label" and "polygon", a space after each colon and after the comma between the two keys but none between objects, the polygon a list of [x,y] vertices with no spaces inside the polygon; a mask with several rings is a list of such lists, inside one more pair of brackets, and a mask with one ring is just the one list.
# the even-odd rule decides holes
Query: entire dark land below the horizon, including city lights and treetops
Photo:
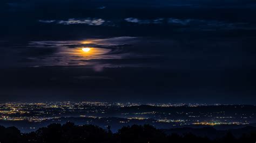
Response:
[{"label": "entire dark land below the horizon, including city lights and treetops", "polygon": [[0,112],[1,142],[253,142],[256,135],[254,105],[12,102]]}]

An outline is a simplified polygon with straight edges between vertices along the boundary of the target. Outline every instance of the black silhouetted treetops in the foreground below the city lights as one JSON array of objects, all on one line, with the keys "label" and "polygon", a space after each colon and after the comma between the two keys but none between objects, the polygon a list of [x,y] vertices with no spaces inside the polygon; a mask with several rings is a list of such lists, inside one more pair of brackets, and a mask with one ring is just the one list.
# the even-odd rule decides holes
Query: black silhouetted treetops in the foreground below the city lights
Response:
[{"label": "black silhouetted treetops in the foreground below the city lights", "polygon": [[[234,137],[232,132],[226,132],[221,138],[199,137],[193,131],[166,133],[151,125],[124,126],[117,133],[111,132],[111,127],[104,130],[95,125],[75,125],[73,123],[50,124],[35,132],[21,133],[16,127],[0,126],[0,142],[255,142],[256,130],[243,132],[240,137]],[[210,131],[211,128],[204,128]],[[241,132],[247,130],[241,128]],[[182,129],[181,129],[182,130]],[[210,133],[210,132],[209,132]],[[224,132],[223,132],[224,133]]]}]

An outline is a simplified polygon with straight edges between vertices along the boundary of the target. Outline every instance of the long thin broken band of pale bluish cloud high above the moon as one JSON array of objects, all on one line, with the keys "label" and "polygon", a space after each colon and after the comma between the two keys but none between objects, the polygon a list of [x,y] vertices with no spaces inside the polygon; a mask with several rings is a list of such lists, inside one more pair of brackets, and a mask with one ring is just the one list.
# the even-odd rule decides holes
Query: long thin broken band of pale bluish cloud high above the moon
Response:
[{"label": "long thin broken band of pale bluish cloud high above the moon", "polygon": [[[226,22],[225,20],[214,20],[214,19],[194,19],[194,18],[135,18],[129,17],[124,18],[127,23],[134,23],[137,26],[139,25],[147,25],[147,26],[174,26],[177,31],[214,31],[218,30],[254,30],[255,25],[250,23],[241,23],[241,22]],[[111,27],[120,27],[123,26],[122,20],[120,19],[111,19],[104,20],[102,18],[69,18],[68,20],[38,20],[41,23],[48,24],[62,24],[62,25],[78,25],[85,24],[90,26],[111,26]],[[179,27],[177,27],[179,26]],[[130,28],[130,27],[129,27]]]}]

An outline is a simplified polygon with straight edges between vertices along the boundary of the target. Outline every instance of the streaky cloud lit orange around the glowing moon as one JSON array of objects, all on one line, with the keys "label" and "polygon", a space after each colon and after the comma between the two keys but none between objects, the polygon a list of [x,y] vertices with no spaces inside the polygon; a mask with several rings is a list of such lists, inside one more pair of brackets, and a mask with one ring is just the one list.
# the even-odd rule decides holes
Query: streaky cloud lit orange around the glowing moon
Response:
[{"label": "streaky cloud lit orange around the glowing moon", "polygon": [[[11,55],[8,56],[8,60],[4,58],[4,63],[16,62],[16,65],[21,67],[91,65],[96,66],[95,70],[100,71],[102,67],[124,66],[122,62],[118,64],[112,60],[136,58],[138,55],[130,53],[130,48],[138,40],[137,37],[112,37],[67,41],[30,41],[19,47],[12,44],[11,48],[3,48],[8,53],[2,52],[2,55]],[[84,54],[81,51],[82,47],[92,47],[92,50],[89,54]],[[14,56],[16,57],[14,58]],[[16,61],[12,61],[12,59],[16,59]],[[99,59],[112,60],[102,62]],[[125,66],[131,65],[125,63]]]}]

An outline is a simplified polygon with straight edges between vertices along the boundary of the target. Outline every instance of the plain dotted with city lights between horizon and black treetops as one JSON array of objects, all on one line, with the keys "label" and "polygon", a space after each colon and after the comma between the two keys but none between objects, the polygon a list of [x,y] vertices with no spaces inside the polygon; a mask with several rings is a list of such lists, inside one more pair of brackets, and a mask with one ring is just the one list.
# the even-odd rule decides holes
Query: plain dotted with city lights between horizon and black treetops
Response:
[{"label": "plain dotted with city lights between horizon and black treetops", "polygon": [[[107,117],[109,111],[119,111],[123,107],[139,106],[140,103],[107,103],[107,102],[45,102],[45,103],[0,103],[0,120],[27,120],[44,121],[58,119],[76,113],[77,116],[100,119]],[[201,106],[201,104],[148,104],[151,106]],[[216,105],[218,106],[218,105]],[[118,109],[118,110],[116,110]],[[233,113],[225,111],[218,112],[185,112],[185,111],[143,111],[136,107],[136,112],[120,112],[117,117],[126,119],[146,120],[154,119],[159,123],[195,124],[195,125],[221,125],[221,124],[248,124],[254,119],[254,114]],[[165,109],[165,108],[163,108]],[[141,112],[140,112],[141,111]],[[177,119],[177,117],[179,119]],[[212,121],[198,121],[200,118],[207,118]],[[122,120],[121,120],[122,121]],[[126,121],[127,122],[127,121]],[[122,122],[120,122],[122,123]]]}]

